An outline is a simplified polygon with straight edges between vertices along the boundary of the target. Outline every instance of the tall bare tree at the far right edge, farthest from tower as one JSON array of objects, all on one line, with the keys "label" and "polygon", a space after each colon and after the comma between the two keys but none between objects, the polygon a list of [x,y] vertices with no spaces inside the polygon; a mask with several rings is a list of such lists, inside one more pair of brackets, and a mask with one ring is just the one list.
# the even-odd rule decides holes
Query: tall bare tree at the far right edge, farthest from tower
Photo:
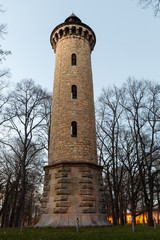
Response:
[{"label": "tall bare tree at the far right edge, farthest from tower", "polygon": [[144,203],[148,211],[148,223],[153,225],[153,205],[155,178],[159,169],[155,162],[159,158],[160,134],[159,97],[160,86],[148,81],[128,80],[125,87],[125,109],[132,140],[135,144],[136,162],[144,195]]}]

